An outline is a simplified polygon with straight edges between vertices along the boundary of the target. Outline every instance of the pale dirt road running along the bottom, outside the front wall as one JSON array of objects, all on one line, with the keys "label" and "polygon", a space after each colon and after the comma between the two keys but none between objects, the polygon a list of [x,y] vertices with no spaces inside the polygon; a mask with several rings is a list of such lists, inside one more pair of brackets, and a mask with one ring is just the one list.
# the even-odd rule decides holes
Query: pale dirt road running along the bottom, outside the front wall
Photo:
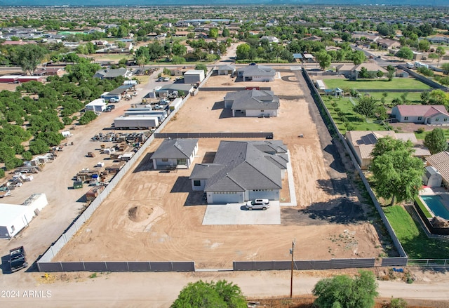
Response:
[{"label": "pale dirt road running along the bottom, outside the front wall", "polygon": [[[319,279],[340,272],[295,272],[293,295],[311,294]],[[9,275],[0,282],[1,307],[170,307],[180,290],[199,279],[225,279],[236,283],[246,297],[288,297],[290,272],[196,272],[196,273],[89,273],[56,274],[42,278],[27,274],[20,284]],[[449,302],[448,275],[424,273],[422,279],[407,284],[403,281],[378,281],[380,297],[419,298]],[[430,281],[430,282],[429,282]],[[36,292],[35,297],[29,291]],[[6,293],[6,291],[10,291]],[[14,291],[14,296],[11,297]],[[34,292],[33,292],[34,294]],[[8,295],[8,296],[7,296]],[[17,297],[19,295],[19,297]],[[25,297],[28,296],[28,297]],[[43,297],[45,296],[45,297]],[[438,307],[449,307],[439,305]]]}]

